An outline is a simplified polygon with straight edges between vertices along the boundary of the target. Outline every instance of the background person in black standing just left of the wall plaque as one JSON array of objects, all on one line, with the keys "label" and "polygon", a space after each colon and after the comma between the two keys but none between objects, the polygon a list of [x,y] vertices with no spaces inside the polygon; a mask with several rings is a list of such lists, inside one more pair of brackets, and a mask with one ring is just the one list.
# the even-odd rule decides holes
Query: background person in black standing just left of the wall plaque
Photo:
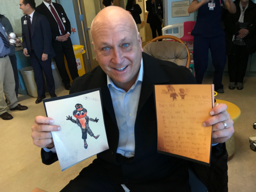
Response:
[{"label": "background person in black standing just left of the wall plaque", "polygon": [[156,31],[158,36],[162,35],[162,20],[163,16],[163,1],[162,0],[147,0],[146,10],[148,11],[147,23],[149,23],[152,37],[156,38]]}]

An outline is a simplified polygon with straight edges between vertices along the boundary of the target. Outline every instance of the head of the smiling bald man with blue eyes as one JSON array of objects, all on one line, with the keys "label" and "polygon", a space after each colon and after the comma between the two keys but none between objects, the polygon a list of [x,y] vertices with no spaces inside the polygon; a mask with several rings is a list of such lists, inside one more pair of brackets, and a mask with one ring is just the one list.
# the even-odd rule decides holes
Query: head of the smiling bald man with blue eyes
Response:
[{"label": "head of the smiling bald man with blue eyes", "polygon": [[110,12],[102,13],[93,22],[94,51],[100,67],[113,83],[128,91],[139,73],[142,42],[130,14],[121,8],[108,9]]}]

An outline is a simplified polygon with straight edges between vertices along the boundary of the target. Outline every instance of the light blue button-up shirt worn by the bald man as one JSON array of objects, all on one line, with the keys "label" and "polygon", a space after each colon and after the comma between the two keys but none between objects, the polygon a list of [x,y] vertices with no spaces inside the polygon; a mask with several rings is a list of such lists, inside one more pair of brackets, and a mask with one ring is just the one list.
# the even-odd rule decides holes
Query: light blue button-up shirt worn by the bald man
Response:
[{"label": "light blue button-up shirt worn by the bald man", "polygon": [[142,59],[138,77],[133,86],[127,92],[115,86],[111,78],[107,75],[107,84],[112,98],[119,130],[117,153],[128,158],[133,157],[135,151],[134,124],[139,104],[142,79]]}]

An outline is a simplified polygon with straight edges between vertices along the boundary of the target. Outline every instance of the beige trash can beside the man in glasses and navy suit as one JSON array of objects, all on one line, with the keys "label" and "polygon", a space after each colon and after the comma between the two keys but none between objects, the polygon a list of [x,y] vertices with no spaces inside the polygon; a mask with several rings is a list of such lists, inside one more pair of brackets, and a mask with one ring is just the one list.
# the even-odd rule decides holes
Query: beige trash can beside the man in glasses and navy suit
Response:
[{"label": "beige trash can beside the man in glasses and navy suit", "polygon": [[20,69],[20,72],[27,87],[28,94],[32,97],[37,97],[37,86],[34,79],[33,68],[24,67]]}]

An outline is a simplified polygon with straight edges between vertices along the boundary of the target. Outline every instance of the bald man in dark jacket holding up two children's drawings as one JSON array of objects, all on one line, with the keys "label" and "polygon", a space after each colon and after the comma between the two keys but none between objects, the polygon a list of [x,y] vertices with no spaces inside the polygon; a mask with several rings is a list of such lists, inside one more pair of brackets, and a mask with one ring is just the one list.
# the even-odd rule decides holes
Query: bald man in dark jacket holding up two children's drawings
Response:
[{"label": "bald man in dark jacket holding up two children's drawings", "polygon": [[[91,33],[100,66],[75,79],[70,93],[101,88],[109,149],[99,153],[62,192],[190,192],[188,161],[157,153],[153,85],[196,84],[194,76],[185,67],[142,53],[136,23],[122,8],[101,10],[93,20]],[[227,189],[224,142],[234,132],[226,109],[225,104],[214,107],[209,111],[213,116],[202,122],[205,127],[213,126],[216,145],[212,146],[211,169],[194,164],[204,184],[216,192]],[[48,165],[58,160],[49,131],[60,127],[49,125],[53,122],[38,116],[32,126],[33,142],[42,148],[42,161]]]}]

